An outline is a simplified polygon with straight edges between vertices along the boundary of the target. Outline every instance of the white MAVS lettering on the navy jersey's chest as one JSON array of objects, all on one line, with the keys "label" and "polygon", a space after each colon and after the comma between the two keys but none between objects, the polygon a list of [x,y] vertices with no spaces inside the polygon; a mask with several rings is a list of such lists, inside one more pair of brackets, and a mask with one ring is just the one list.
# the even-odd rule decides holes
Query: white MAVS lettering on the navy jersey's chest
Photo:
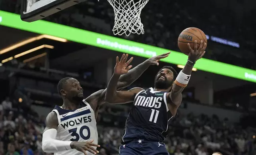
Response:
[{"label": "white MAVS lettering on the navy jersey's chest", "polygon": [[135,106],[144,106],[144,107],[154,107],[154,108],[160,108],[161,107],[161,101],[163,100],[163,97],[145,97],[145,96],[138,96],[135,101]]}]

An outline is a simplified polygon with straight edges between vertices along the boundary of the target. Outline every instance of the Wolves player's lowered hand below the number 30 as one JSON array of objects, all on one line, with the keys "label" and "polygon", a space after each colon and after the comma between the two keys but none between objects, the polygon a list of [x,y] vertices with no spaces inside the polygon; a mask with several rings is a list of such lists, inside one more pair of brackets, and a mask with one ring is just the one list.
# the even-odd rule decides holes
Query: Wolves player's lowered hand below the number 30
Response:
[{"label": "Wolves player's lowered hand below the number 30", "polygon": [[76,149],[78,151],[81,151],[85,155],[87,155],[86,151],[89,151],[93,154],[99,153],[99,151],[97,151],[92,146],[96,146],[96,147],[100,147],[100,146],[97,145],[97,144],[93,144],[92,142],[93,142],[93,140],[90,140],[88,142],[72,142],[70,144],[70,146],[71,146],[72,149]]}]

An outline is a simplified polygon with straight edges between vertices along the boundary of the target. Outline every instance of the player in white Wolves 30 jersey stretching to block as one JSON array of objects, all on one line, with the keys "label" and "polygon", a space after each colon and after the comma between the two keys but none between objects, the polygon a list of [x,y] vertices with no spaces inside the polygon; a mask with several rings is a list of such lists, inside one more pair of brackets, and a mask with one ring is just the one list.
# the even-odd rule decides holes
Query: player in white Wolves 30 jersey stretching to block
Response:
[{"label": "player in white Wolves 30 jersey stretching to block", "polygon": [[[117,89],[122,89],[133,83],[150,66],[168,55],[165,53],[147,59],[142,64],[129,70],[126,62],[119,63],[120,68],[126,68],[128,74],[121,76]],[[55,155],[91,155],[99,153],[96,150],[98,134],[96,118],[99,106],[105,103],[105,90],[99,90],[83,99],[83,89],[78,80],[65,77],[58,83],[58,93],[62,96],[63,105],[55,106],[46,118],[46,128],[43,133],[43,151]]]}]

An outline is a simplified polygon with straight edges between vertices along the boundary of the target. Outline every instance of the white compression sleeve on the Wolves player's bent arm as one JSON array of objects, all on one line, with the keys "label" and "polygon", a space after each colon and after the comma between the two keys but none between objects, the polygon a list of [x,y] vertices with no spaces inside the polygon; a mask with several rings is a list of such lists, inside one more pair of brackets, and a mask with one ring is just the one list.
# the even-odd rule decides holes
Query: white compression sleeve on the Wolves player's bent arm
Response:
[{"label": "white compression sleeve on the Wolves player's bent arm", "polygon": [[56,135],[56,129],[48,129],[43,133],[42,149],[44,152],[56,153],[58,151],[72,149],[70,147],[71,141],[56,140]]}]

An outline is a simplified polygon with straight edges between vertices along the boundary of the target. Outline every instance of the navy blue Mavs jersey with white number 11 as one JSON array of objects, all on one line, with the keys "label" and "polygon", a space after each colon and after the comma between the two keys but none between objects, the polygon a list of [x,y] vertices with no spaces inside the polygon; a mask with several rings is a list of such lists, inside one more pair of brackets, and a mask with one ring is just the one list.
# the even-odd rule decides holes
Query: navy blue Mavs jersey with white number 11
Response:
[{"label": "navy blue Mavs jersey with white number 11", "polygon": [[166,94],[149,88],[135,96],[126,119],[122,144],[138,139],[154,142],[165,140],[168,121],[173,117],[167,107]]}]

